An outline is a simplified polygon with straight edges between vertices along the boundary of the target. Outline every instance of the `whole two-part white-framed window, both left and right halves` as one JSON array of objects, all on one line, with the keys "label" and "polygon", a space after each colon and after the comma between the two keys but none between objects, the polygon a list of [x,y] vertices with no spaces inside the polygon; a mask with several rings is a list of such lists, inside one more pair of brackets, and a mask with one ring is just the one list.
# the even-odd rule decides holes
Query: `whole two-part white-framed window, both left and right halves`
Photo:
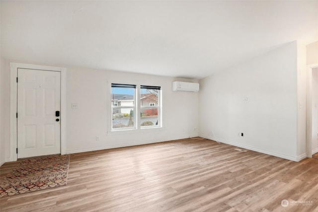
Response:
[{"label": "whole two-part white-framed window, both left and right halves", "polygon": [[161,87],[112,83],[111,116],[111,131],[161,127]]}]

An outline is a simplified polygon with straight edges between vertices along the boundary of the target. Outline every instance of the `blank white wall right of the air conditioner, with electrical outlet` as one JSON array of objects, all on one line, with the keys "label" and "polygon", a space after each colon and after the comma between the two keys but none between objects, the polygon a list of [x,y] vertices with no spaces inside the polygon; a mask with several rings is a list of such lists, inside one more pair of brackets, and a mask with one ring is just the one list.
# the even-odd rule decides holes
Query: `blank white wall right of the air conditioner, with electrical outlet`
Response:
[{"label": "blank white wall right of the air conditioner, with electrical outlet", "polygon": [[296,59],[291,42],[200,80],[200,135],[298,161]]}]

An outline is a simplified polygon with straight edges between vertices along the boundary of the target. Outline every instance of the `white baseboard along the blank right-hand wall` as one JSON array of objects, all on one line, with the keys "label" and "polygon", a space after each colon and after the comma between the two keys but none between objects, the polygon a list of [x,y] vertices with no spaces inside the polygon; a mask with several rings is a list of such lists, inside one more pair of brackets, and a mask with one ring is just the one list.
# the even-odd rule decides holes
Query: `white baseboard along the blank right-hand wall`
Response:
[{"label": "white baseboard along the blank right-hand wall", "polygon": [[233,141],[226,141],[226,140],[223,140],[223,139],[217,139],[217,138],[210,137],[210,136],[200,135],[200,137],[205,138],[205,139],[210,139],[210,140],[213,140],[213,141],[218,141],[218,142],[221,142],[221,143],[230,144],[230,145],[233,145],[233,146],[238,146],[238,147],[241,147],[241,148],[245,148],[245,149],[249,149],[249,150],[253,150],[253,151],[257,151],[257,152],[261,152],[261,153],[264,153],[264,154],[273,155],[273,156],[276,156],[276,157],[281,157],[281,158],[288,159],[288,160],[293,160],[293,161],[296,161],[296,162],[306,158],[306,153],[302,154],[300,156],[292,156],[292,155],[281,154],[279,152],[269,151],[269,150],[266,150],[266,149],[257,148],[257,147],[254,147],[254,146],[240,144],[240,143],[233,142]]}]

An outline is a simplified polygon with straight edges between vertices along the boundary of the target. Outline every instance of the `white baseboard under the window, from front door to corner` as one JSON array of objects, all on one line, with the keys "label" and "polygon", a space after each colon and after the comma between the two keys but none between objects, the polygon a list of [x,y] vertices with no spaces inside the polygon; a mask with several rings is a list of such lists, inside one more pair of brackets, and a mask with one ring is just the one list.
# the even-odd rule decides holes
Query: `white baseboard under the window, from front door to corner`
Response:
[{"label": "white baseboard under the window, from front door to corner", "polygon": [[66,154],[74,154],[74,153],[80,153],[80,152],[86,152],[86,151],[97,151],[97,150],[127,147],[127,146],[136,146],[136,145],[142,145],[142,144],[173,141],[173,140],[179,140],[179,139],[188,139],[188,138],[193,138],[198,136],[199,136],[198,134],[194,134],[189,136],[176,136],[176,137],[169,137],[166,139],[158,139],[158,140],[150,140],[150,141],[136,141],[136,142],[130,142],[130,143],[109,144],[105,146],[97,146],[97,147],[91,147],[91,148],[69,149],[69,150],[66,150]]}]

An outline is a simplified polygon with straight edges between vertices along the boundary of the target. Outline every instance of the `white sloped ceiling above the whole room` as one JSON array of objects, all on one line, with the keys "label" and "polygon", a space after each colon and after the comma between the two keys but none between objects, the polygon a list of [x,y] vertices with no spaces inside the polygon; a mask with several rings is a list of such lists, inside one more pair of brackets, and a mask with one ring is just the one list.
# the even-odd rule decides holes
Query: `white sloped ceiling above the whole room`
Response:
[{"label": "white sloped ceiling above the whole room", "polygon": [[318,40],[318,1],[2,1],[1,56],[202,78]]}]

